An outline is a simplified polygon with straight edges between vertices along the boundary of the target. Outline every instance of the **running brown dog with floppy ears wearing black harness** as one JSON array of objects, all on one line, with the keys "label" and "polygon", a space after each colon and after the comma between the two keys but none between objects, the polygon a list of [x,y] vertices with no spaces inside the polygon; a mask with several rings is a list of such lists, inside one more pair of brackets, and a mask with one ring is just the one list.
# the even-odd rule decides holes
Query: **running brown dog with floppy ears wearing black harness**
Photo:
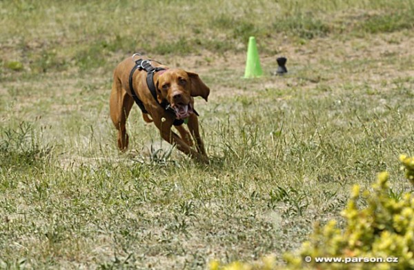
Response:
[{"label": "running brown dog with floppy ears wearing black harness", "polygon": [[[109,102],[110,117],[118,130],[119,149],[125,151],[128,148],[126,119],[135,100],[143,112],[144,121],[154,122],[163,139],[177,145],[179,151],[190,157],[208,162],[193,97],[200,96],[207,101],[209,94],[210,88],[196,73],[168,68],[149,59],[137,60],[137,55],[121,61],[114,71]],[[187,123],[189,132],[183,122]],[[180,136],[172,131],[173,125]],[[193,141],[190,135],[197,151],[191,148]]]}]

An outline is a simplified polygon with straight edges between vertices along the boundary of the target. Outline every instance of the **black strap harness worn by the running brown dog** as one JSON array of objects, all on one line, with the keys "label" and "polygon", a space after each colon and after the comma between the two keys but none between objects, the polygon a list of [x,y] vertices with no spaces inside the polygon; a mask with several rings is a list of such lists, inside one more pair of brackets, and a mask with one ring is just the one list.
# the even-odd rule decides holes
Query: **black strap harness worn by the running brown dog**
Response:
[{"label": "black strap harness worn by the running brown dog", "polygon": [[[135,55],[132,55],[132,58],[135,57]],[[154,97],[154,99],[158,102],[157,89],[155,88],[155,84],[154,84],[154,74],[161,70],[166,70],[166,68],[160,68],[160,67],[155,68],[151,66],[151,61],[152,60],[150,59],[138,59],[137,61],[135,61],[135,66],[132,68],[130,72],[130,77],[129,77],[129,86],[130,86],[132,98],[135,100],[135,103],[139,106],[142,113],[147,113],[147,114],[148,114],[148,110],[146,110],[144,103],[142,103],[141,99],[139,99],[139,97],[135,93],[134,87],[132,86],[132,75],[134,75],[135,70],[137,69],[146,71],[147,73],[146,83],[147,83],[148,89],[150,90],[152,97]],[[161,104],[158,102],[158,104],[161,105],[163,108],[165,108],[165,110],[168,110],[171,113],[175,114],[175,111],[170,107],[170,104],[168,104],[168,102],[162,102]],[[172,124],[174,126],[181,126],[183,123],[184,123],[184,119],[175,119]]]}]

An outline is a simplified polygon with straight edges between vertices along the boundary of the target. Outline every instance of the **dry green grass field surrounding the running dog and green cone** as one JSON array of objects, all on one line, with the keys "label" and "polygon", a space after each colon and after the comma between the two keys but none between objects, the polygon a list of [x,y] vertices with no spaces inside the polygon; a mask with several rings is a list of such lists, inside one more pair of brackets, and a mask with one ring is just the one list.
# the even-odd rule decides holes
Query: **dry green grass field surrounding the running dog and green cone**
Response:
[{"label": "dry green grass field surrounding the running dog and green cone", "polygon": [[[352,184],[386,170],[394,196],[412,191],[397,157],[414,155],[413,1],[3,0],[0,15],[0,269],[282,263],[315,222],[343,222]],[[242,79],[250,35],[260,79]],[[136,106],[117,151],[112,70],[133,52],[210,86],[210,165],[171,153]]]}]

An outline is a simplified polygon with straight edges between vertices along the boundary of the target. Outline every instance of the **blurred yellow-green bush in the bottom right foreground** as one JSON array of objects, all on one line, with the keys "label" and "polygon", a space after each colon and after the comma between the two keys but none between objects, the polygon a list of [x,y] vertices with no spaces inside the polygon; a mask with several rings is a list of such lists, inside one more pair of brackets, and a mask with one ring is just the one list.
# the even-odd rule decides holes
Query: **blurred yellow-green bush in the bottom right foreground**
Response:
[{"label": "blurred yellow-green bush in the bottom right foreground", "polygon": [[[414,184],[414,157],[400,156],[406,178]],[[233,262],[220,265],[211,262],[210,270],[253,269],[414,269],[414,195],[403,193],[391,196],[389,175],[380,173],[372,190],[361,191],[353,186],[351,199],[342,216],[346,219],[344,230],[331,220],[324,227],[315,226],[311,240],[302,244],[299,255],[286,253],[286,266],[275,264],[266,257],[253,264]],[[364,200],[366,206],[358,209],[357,202]],[[309,258],[311,258],[309,262]],[[342,262],[316,262],[312,258],[375,258]],[[393,260],[386,261],[392,258]],[[382,262],[381,262],[382,260]]]}]

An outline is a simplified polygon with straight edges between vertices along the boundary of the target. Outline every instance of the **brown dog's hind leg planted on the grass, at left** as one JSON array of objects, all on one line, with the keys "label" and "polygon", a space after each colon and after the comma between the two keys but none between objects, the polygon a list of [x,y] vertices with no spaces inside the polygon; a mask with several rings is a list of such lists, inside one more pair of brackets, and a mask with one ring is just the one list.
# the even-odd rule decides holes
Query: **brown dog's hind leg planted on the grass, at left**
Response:
[{"label": "brown dog's hind leg planted on the grass, at left", "polygon": [[126,133],[126,119],[134,105],[134,99],[122,88],[121,81],[114,78],[109,99],[110,118],[118,130],[118,147],[121,151],[128,148],[128,133]]}]

